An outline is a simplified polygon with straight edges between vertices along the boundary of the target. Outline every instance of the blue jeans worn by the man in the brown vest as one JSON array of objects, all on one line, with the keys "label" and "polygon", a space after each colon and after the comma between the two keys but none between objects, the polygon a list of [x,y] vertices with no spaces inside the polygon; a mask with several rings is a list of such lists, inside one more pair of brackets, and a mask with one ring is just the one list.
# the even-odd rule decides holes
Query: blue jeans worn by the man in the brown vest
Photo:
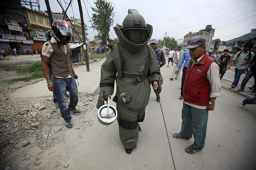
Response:
[{"label": "blue jeans worn by the man in the brown vest", "polygon": [[[75,78],[72,76],[68,79],[54,77],[54,91],[59,104],[60,113],[64,120],[70,120],[70,110],[74,110],[78,103],[78,88]],[[69,91],[70,102],[66,108],[66,92]]]}]

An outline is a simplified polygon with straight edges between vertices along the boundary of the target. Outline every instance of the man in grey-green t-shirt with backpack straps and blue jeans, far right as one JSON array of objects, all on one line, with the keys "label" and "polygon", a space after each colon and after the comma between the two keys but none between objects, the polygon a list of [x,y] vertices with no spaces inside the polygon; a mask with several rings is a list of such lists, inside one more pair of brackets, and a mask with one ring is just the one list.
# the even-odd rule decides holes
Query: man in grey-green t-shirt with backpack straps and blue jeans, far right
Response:
[{"label": "man in grey-green t-shirt with backpack straps and blue jeans, far right", "polygon": [[235,57],[232,60],[231,66],[233,66],[235,60],[236,66],[235,66],[235,79],[231,85],[233,89],[238,85],[240,76],[243,72],[245,72],[246,68],[248,67],[248,61],[251,61],[254,57],[254,53],[251,52],[252,45],[250,43],[246,43],[244,45],[244,49],[242,51],[239,51],[236,53]]}]

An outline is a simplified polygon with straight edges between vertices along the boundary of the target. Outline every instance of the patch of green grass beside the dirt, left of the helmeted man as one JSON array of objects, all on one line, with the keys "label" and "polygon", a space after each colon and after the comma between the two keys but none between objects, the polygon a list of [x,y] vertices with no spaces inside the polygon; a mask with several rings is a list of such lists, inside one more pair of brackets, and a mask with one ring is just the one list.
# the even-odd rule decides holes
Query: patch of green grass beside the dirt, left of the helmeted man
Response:
[{"label": "patch of green grass beside the dirt, left of the helmeted man", "polygon": [[25,77],[16,78],[6,80],[8,83],[15,83],[18,81],[29,81],[38,78],[44,78],[43,70],[42,70],[42,62],[38,61],[33,64],[28,64],[25,66],[9,66],[5,68],[6,71],[16,71],[20,74],[27,74]]}]

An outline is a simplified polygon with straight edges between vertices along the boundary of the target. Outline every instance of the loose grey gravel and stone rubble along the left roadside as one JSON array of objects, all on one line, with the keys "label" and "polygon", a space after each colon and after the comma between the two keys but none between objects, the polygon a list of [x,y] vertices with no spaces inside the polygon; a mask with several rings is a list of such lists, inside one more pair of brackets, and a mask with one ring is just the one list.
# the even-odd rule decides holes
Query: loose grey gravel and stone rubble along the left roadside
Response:
[{"label": "loose grey gravel and stone rubble along the left roadside", "polygon": [[[67,130],[65,122],[60,115],[59,108],[54,107],[53,97],[42,97],[31,101],[8,98],[8,94],[14,91],[5,90],[0,94],[2,103],[0,106],[0,150],[5,155],[0,157],[1,166],[40,169],[41,167],[35,166],[42,166],[44,161],[39,161],[40,158],[37,157],[65,140]],[[97,98],[97,96],[79,94],[79,104],[76,109],[81,113],[71,115],[79,118],[79,126],[75,123],[74,131],[85,131],[87,127],[95,123],[94,119],[88,115],[95,109]],[[76,137],[82,138],[83,135],[78,133]],[[38,149],[42,152],[28,154],[29,150],[36,152]],[[17,156],[12,158],[9,155]],[[64,167],[68,168],[68,163]]]}]

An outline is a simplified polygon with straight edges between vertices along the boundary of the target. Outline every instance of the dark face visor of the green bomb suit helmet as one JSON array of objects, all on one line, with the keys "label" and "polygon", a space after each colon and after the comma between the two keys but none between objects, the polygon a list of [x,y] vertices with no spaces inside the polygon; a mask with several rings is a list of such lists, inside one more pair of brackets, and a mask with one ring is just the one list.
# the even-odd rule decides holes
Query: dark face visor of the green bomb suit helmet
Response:
[{"label": "dark face visor of the green bomb suit helmet", "polygon": [[145,28],[127,28],[124,31],[124,37],[134,44],[143,44],[148,38],[148,30]]}]

